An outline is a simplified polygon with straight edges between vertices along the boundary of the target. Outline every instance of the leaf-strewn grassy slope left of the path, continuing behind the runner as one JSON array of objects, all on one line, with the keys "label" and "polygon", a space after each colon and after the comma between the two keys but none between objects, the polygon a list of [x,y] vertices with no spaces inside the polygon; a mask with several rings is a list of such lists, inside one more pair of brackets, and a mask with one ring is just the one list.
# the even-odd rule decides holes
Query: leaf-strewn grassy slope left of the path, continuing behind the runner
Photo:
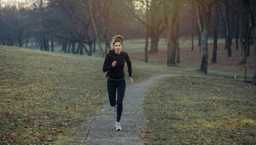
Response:
[{"label": "leaf-strewn grassy slope left of the path, continuing behind the runner", "polygon": [[[132,63],[134,83],[170,73]],[[100,57],[0,45],[0,144],[73,142],[81,123],[90,123],[108,102],[102,65]]]}]

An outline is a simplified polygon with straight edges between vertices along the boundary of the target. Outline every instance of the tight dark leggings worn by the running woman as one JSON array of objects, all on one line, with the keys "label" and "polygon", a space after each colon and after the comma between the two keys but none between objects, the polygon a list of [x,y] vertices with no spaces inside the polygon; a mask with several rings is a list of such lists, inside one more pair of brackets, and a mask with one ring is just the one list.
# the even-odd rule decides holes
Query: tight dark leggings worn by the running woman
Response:
[{"label": "tight dark leggings worn by the running woman", "polygon": [[[123,97],[125,95],[126,83],[123,80],[108,79],[108,97],[110,98],[110,105],[113,107],[117,105],[116,121],[119,122],[123,111]],[[116,100],[117,89],[117,100]]]}]

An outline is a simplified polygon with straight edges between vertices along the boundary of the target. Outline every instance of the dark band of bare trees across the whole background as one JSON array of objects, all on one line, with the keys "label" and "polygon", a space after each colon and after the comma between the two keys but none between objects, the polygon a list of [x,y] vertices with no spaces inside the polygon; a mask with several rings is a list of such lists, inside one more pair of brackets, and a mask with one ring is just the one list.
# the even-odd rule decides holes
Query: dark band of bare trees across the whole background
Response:
[{"label": "dark band of bare trees across the whole background", "polygon": [[[1,1],[0,1],[1,2]],[[167,65],[179,63],[179,37],[199,39],[207,74],[208,37],[214,39],[212,63],[217,62],[217,38],[225,38],[227,57],[231,44],[242,50],[246,63],[250,45],[256,42],[256,2],[254,0],[28,0],[27,4],[0,4],[0,44],[40,46],[54,51],[54,43],[65,53],[88,54],[99,45],[102,57],[110,48],[111,36],[145,38],[146,54],[158,50],[160,37],[167,42]],[[149,40],[150,46],[149,46]],[[100,43],[99,43],[100,42]],[[102,48],[101,43],[105,43]],[[148,49],[148,47],[150,47]],[[256,61],[256,60],[255,60]],[[256,70],[255,75],[256,77]]]}]

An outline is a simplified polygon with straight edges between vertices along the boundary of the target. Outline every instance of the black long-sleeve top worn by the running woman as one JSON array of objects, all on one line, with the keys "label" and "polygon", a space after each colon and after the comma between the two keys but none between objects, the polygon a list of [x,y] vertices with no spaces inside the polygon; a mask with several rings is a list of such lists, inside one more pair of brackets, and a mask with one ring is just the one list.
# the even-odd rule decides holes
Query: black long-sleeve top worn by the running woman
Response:
[{"label": "black long-sleeve top worn by the running woman", "polygon": [[[113,67],[112,63],[114,60],[116,61],[116,66]],[[103,65],[103,72],[108,71],[106,77],[111,80],[125,79],[125,72],[123,71],[125,62],[127,63],[129,77],[131,77],[131,60],[128,54],[122,51],[120,54],[117,54],[114,50],[110,50],[110,53],[107,54]]]}]

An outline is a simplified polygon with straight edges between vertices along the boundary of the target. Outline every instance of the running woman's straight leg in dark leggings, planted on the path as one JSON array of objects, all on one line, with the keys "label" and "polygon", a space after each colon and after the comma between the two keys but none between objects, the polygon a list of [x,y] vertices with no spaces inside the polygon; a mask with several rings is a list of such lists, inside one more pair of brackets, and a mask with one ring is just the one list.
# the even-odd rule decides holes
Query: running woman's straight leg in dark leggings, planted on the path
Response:
[{"label": "running woman's straight leg in dark leggings, planted on the path", "polygon": [[121,80],[117,86],[117,118],[116,121],[119,122],[122,111],[123,111],[123,97],[125,96],[125,80]]}]

